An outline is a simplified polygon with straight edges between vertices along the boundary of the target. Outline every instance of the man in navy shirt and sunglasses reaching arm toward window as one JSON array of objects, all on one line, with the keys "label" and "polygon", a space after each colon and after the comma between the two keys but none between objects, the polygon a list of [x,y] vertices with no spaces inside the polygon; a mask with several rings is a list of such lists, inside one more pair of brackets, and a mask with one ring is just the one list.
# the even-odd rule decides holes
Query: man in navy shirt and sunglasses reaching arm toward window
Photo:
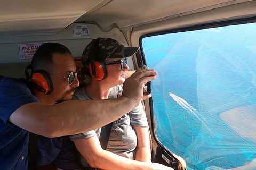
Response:
[{"label": "man in navy shirt and sunglasses reaching arm toward window", "polygon": [[79,82],[67,47],[42,44],[31,62],[31,75],[29,69],[28,80],[0,77],[1,169],[27,169],[29,132],[60,137],[97,129],[121,117],[140,103],[144,84],[157,74],[150,69],[135,72],[118,99],[70,100]]}]

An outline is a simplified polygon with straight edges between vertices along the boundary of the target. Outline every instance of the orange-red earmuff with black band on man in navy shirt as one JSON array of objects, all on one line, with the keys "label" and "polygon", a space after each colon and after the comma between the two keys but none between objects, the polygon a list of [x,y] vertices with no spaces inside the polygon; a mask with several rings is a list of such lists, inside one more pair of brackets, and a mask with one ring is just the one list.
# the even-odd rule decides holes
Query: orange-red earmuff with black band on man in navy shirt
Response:
[{"label": "orange-red earmuff with black band on man in navy shirt", "polygon": [[38,91],[41,95],[48,95],[52,92],[52,81],[49,74],[44,70],[37,70],[29,75],[28,70],[31,70],[31,64],[25,69],[25,75],[28,82]]}]

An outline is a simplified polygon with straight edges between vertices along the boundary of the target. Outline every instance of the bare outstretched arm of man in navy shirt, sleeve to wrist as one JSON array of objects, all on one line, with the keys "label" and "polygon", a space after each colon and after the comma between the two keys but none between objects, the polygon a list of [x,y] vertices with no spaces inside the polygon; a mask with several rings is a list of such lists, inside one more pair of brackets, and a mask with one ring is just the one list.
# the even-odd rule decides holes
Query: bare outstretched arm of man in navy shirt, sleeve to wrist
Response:
[{"label": "bare outstretched arm of man in navy shirt, sleeve to wrist", "polygon": [[18,108],[9,121],[22,129],[58,137],[83,133],[113,122],[135,104],[126,97],[108,100],[70,100],[52,106],[29,103]]}]

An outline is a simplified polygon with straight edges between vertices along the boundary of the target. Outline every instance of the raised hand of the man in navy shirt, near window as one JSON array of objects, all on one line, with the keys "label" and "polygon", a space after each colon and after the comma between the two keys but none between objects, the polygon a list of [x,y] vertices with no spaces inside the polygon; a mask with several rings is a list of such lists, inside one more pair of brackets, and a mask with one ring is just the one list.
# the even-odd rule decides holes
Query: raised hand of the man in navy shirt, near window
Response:
[{"label": "raised hand of the man in navy shirt, near window", "polygon": [[[131,99],[135,106],[138,106],[143,97],[143,87],[148,81],[156,79],[157,72],[154,69],[142,69],[137,70],[126,79],[123,87],[123,97]],[[144,96],[143,99],[147,99],[151,95]]]}]

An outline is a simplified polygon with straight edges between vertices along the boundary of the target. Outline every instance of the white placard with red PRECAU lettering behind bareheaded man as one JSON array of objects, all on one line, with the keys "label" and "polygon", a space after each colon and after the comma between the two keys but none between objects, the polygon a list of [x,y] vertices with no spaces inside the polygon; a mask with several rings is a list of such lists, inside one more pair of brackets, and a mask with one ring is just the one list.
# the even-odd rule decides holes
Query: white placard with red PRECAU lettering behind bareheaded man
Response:
[{"label": "white placard with red PRECAU lettering behind bareheaded man", "polygon": [[42,43],[19,44],[20,60],[31,60]]}]

